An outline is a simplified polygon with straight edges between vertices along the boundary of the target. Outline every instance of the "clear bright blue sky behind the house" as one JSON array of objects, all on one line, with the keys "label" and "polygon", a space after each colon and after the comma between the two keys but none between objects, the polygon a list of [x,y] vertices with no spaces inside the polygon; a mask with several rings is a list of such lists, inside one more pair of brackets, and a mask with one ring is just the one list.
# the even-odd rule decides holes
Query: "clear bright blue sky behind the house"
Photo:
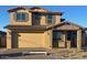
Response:
[{"label": "clear bright blue sky behind the house", "polygon": [[[66,21],[87,28],[87,6],[40,6],[40,7],[51,11],[64,12],[62,18],[66,19]],[[13,8],[17,8],[17,6],[0,6],[0,31],[7,31],[7,29],[3,29],[3,26],[10,23],[10,15],[8,10]],[[30,6],[28,8],[30,8]]]}]

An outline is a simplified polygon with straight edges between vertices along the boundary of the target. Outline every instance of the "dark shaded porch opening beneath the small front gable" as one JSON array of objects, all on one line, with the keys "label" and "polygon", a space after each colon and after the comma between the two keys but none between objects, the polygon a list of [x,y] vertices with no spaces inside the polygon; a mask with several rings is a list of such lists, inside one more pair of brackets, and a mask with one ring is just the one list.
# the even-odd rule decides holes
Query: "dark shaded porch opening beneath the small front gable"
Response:
[{"label": "dark shaded porch opening beneath the small front gable", "polygon": [[53,47],[76,47],[77,31],[54,31]]}]

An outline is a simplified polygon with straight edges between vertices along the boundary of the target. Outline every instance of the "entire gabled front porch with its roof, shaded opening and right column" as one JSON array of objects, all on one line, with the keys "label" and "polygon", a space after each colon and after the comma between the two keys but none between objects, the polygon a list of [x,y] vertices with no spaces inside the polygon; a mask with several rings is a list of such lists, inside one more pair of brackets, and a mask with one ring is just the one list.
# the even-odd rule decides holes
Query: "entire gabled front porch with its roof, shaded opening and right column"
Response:
[{"label": "entire gabled front porch with its roof, shaded opening and right column", "polygon": [[53,47],[81,50],[81,31],[77,24],[64,22],[53,30]]}]

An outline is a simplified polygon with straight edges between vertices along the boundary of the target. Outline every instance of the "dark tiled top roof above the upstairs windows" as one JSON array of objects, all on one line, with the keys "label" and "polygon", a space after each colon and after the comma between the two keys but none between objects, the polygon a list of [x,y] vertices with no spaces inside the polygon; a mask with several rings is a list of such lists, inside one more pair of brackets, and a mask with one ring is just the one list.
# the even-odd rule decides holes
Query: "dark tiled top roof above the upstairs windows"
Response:
[{"label": "dark tiled top roof above the upstairs windows", "polygon": [[[18,10],[25,10],[25,9],[29,9],[30,12],[34,13],[34,12],[37,12],[37,11],[33,11],[34,9],[43,9],[43,8],[40,8],[40,7],[32,7],[32,8],[25,8],[25,7],[18,7],[18,8],[13,8],[13,9],[10,9],[8,10],[8,12],[14,12],[14,11],[18,11]],[[46,10],[46,9],[43,9],[43,10]],[[40,13],[45,13],[45,14],[59,14],[62,15],[63,12],[52,12],[52,11],[48,11],[46,10],[46,12],[41,12],[39,11]]]}]

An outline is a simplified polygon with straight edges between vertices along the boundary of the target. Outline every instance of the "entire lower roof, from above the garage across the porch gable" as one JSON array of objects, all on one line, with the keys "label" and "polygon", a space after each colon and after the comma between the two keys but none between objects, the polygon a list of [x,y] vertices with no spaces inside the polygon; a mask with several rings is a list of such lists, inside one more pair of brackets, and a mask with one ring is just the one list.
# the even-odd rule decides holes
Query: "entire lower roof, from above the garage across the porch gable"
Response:
[{"label": "entire lower roof, from above the garage across the porch gable", "polygon": [[29,30],[29,31],[44,31],[44,30],[51,30],[58,28],[63,24],[72,24],[75,26],[78,26],[79,29],[84,30],[83,26],[72,23],[72,22],[62,22],[59,24],[52,24],[52,25],[7,25],[4,29],[10,29],[10,30]]}]

